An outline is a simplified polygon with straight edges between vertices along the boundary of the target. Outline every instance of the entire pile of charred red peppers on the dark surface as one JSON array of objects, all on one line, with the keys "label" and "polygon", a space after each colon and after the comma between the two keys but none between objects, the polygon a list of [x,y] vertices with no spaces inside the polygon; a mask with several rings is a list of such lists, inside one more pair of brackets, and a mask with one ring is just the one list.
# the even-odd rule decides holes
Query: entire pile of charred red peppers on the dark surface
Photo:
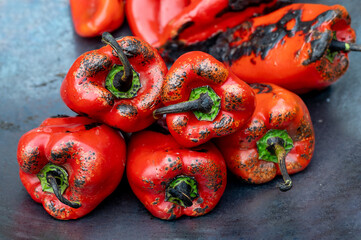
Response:
[{"label": "entire pile of charred red peppers on the dark surface", "polygon": [[[70,0],[75,31],[104,46],[79,56],[58,115],[18,144],[20,179],[54,218],[85,216],[123,174],[149,212],[216,207],[230,172],[250,184],[304,170],[315,149],[297,94],[325,88],[359,51],[340,5],[277,0]],[[127,20],[135,36],[109,31]],[[166,64],[169,64],[169,69]],[[124,173],[126,169],[126,173]],[[280,180],[277,180],[280,181]],[[297,183],[295,183],[297,185]]]}]

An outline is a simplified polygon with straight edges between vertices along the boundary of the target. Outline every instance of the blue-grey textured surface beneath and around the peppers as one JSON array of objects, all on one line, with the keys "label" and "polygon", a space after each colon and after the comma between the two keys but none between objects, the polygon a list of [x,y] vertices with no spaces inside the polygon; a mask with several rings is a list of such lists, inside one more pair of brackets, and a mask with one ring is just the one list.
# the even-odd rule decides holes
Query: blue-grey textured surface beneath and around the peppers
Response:
[{"label": "blue-grey textured surface beneath and around the peppers", "polygon": [[[303,1],[306,2],[306,1]],[[316,1],[336,4],[341,1]],[[361,4],[342,1],[361,34]],[[126,24],[114,35],[131,34]],[[361,42],[361,40],[359,40]],[[355,239],[361,231],[361,53],[332,87],[302,96],[316,132],[309,167],[280,192],[277,179],[261,186],[229,176],[218,206],[199,218],[153,218],[123,178],[96,210],[75,221],[50,217],[18,177],[22,134],[56,114],[75,115],[59,87],[74,60],[102,46],[72,27],[68,0],[0,0],[0,239]]]}]

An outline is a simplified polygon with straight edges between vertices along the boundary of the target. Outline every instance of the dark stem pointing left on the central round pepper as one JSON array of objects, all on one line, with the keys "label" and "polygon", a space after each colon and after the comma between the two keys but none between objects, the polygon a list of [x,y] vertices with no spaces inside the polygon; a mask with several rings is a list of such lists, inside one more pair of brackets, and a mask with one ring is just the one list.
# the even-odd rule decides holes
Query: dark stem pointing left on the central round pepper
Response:
[{"label": "dark stem pointing left on the central round pepper", "polygon": [[181,113],[188,111],[199,111],[209,113],[212,110],[213,100],[208,93],[202,93],[198,99],[188,102],[176,103],[166,107],[158,108],[153,112],[153,116],[159,116],[168,113]]}]

